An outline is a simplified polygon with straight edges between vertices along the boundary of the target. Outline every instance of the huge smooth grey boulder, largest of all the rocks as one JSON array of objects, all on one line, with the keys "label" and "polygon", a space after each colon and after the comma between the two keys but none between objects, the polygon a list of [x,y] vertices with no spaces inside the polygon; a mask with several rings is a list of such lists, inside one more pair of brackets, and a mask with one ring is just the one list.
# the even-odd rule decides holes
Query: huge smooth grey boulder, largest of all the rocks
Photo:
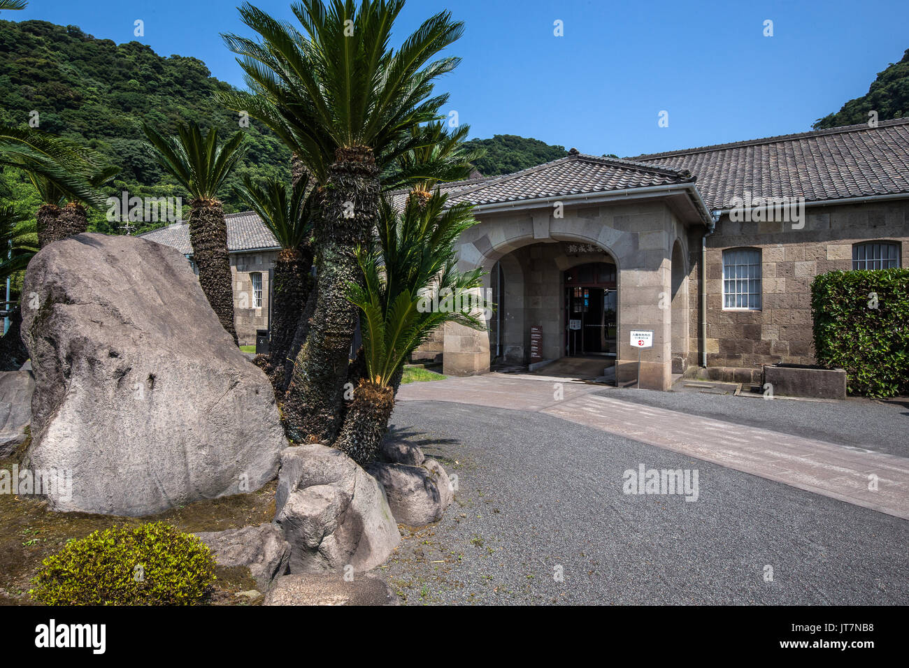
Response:
[{"label": "huge smooth grey boulder, largest of all the rocks", "polygon": [[78,234],[35,255],[22,294],[25,464],[72,472],[55,510],[159,513],[274,478],[286,440],[271,385],[174,248]]}]

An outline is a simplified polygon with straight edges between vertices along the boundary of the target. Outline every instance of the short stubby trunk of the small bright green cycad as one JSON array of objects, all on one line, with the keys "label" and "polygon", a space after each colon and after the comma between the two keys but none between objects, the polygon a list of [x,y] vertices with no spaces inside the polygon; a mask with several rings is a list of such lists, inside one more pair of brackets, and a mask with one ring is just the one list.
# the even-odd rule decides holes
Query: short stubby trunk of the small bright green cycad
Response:
[{"label": "short stubby trunk of the small bright green cycad", "polygon": [[361,466],[374,461],[394,409],[395,390],[388,385],[357,385],[335,445]]}]

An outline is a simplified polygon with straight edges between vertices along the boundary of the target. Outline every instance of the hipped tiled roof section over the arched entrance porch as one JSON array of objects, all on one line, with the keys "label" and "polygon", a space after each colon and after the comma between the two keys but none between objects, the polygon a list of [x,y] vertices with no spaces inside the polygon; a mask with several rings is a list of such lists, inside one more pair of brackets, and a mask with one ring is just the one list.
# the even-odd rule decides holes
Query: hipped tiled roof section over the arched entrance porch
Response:
[{"label": "hipped tiled roof section over the arched entrance porch", "polygon": [[[441,189],[449,195],[449,204],[482,205],[648,185],[684,184],[693,180],[692,174],[672,167],[573,153],[514,174],[443,184]],[[392,196],[395,204],[400,205],[406,193],[399,191]]]}]

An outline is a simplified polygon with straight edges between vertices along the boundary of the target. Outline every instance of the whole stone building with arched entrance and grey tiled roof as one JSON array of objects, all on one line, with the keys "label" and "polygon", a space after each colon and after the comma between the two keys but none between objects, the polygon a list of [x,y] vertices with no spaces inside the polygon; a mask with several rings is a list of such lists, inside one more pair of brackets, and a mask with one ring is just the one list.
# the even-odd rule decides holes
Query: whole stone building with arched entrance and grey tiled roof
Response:
[{"label": "whole stone building with arched entrance and grey tiled roof", "polygon": [[[759,382],[763,364],[814,362],[814,276],[907,266],[909,119],[624,159],[572,149],[440,190],[474,204],[460,266],[488,272],[496,304],[485,332],[446,324],[422,348],[446,374],[579,357],[654,389],[698,366]],[[273,262],[274,240],[255,214],[227,230],[244,294],[247,258]],[[191,253],[185,225],[145,236]]]}]

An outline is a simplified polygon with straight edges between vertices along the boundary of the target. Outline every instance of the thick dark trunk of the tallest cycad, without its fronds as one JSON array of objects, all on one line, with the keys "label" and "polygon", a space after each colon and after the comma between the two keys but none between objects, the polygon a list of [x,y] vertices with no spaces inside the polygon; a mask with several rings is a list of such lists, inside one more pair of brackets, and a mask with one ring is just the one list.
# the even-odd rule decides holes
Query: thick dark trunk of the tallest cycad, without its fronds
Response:
[{"label": "thick dark trunk of the tallest cycad, without its fronds", "polygon": [[354,255],[365,244],[378,213],[379,179],[370,148],[339,148],[329,167],[325,204],[317,230],[319,247],[315,314],[297,355],[285,398],[291,439],[332,442],[340,428],[357,309],[345,295],[361,280]]}]

